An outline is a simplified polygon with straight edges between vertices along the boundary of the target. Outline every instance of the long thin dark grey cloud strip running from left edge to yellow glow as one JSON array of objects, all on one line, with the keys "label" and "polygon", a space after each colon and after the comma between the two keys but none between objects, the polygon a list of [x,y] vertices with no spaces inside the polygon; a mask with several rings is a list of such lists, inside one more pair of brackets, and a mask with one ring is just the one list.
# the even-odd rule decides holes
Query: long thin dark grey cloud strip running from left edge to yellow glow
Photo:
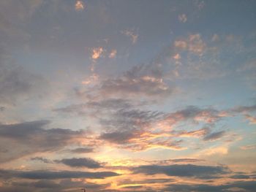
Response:
[{"label": "long thin dark grey cloud strip running from left edge to yellow glow", "polygon": [[72,171],[13,171],[13,170],[0,170],[0,177],[12,178],[18,177],[30,180],[55,180],[55,179],[68,179],[68,178],[90,178],[90,179],[104,179],[105,177],[118,176],[116,172],[72,172]]}]

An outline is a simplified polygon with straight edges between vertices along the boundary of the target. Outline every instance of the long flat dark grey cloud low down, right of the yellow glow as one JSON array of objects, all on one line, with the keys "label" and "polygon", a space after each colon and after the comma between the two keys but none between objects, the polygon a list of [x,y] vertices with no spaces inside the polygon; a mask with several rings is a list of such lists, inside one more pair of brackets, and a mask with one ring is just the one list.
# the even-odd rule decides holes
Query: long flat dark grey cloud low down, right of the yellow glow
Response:
[{"label": "long flat dark grey cloud low down, right of the yellow glow", "polygon": [[173,164],[173,165],[146,165],[132,168],[134,173],[143,174],[166,174],[177,177],[215,177],[219,174],[230,172],[226,166],[197,166],[194,164]]}]

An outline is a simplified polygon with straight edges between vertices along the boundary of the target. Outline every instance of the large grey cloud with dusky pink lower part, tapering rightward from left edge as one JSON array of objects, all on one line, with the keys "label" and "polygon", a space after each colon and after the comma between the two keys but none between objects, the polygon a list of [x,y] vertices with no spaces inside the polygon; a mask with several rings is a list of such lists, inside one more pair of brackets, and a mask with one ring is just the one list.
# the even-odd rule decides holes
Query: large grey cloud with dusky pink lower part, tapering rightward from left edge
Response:
[{"label": "large grey cloud with dusky pink lower part, tapering rightward from left edge", "polygon": [[[7,151],[0,155],[0,162],[10,161],[36,152],[60,150],[74,139],[83,137],[84,131],[63,128],[48,128],[50,121],[0,124],[0,144]],[[3,153],[3,150],[0,153]]]}]

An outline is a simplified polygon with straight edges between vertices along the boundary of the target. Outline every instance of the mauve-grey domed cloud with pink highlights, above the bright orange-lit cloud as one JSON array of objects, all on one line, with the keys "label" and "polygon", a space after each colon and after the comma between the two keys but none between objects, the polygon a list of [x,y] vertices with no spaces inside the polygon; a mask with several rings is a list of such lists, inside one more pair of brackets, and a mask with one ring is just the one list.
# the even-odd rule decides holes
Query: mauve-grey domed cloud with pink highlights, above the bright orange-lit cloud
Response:
[{"label": "mauve-grey domed cloud with pink highlights, above the bright orange-lit cloud", "polygon": [[102,95],[167,97],[175,92],[162,79],[157,66],[135,66],[121,77],[102,81],[99,88]]}]

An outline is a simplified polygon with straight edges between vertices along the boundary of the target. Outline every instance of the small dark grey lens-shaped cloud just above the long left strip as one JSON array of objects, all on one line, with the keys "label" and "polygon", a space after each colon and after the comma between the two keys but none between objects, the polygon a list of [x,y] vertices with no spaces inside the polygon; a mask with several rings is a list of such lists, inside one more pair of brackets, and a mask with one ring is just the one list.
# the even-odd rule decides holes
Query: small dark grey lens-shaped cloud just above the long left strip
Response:
[{"label": "small dark grey lens-shaped cloud just above the long left strip", "polygon": [[102,167],[102,164],[94,161],[92,158],[64,158],[61,160],[56,160],[55,162],[71,167],[87,167],[89,169],[97,169]]}]

